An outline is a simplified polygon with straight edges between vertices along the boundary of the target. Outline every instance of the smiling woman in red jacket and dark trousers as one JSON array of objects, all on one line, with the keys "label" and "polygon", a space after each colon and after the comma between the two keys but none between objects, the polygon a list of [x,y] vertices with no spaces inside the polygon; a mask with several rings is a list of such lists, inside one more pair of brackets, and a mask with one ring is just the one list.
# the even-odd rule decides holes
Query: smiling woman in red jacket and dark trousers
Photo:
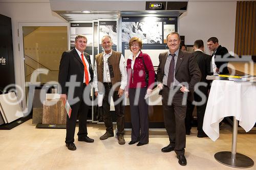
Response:
[{"label": "smiling woman in red jacket and dark trousers", "polygon": [[125,95],[129,98],[132,122],[132,140],[137,146],[148,143],[148,98],[155,83],[155,71],[150,56],[141,52],[142,41],[133,37],[129,42],[131,56],[127,59],[127,86]]}]

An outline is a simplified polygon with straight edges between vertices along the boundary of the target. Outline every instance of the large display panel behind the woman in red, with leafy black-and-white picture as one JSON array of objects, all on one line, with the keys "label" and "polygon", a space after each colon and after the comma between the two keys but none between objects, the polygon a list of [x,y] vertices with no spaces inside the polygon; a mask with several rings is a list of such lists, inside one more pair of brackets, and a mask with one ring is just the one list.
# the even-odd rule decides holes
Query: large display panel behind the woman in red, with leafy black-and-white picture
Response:
[{"label": "large display panel behind the woman in red, with leafy black-and-white picture", "polygon": [[154,66],[159,64],[158,56],[166,51],[166,36],[178,31],[178,17],[122,16],[122,54],[125,60],[132,54],[129,41],[138,37],[143,43],[142,52],[150,55]]}]

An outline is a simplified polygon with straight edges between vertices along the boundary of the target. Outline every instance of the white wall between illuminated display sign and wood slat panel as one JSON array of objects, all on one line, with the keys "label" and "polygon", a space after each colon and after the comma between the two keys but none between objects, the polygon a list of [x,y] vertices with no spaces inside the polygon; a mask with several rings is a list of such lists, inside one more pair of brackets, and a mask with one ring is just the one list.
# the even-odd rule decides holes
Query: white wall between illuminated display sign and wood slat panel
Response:
[{"label": "white wall between illuminated display sign and wood slat panel", "polygon": [[219,44],[228,51],[234,51],[237,2],[188,2],[188,8],[180,16],[179,32],[185,36],[185,44],[193,45],[195,40],[204,41],[217,37]]}]

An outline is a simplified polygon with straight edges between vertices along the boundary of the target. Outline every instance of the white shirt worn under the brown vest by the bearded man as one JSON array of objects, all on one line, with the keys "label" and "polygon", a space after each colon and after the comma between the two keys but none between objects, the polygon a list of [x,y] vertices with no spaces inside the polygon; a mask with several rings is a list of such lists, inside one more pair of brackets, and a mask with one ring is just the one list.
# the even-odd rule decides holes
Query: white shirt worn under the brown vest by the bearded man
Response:
[{"label": "white shirt worn under the brown vest by the bearded man", "polygon": [[[111,83],[110,78],[110,71],[109,71],[109,64],[108,64],[108,58],[112,55],[112,50],[109,54],[103,53],[103,82],[104,83]],[[120,62],[119,62],[119,69],[121,72],[121,89],[125,89],[125,86],[127,84],[127,73],[124,66],[124,57],[121,54]],[[95,91],[99,91],[98,89],[98,73],[97,73],[97,63],[95,61],[94,64],[94,76],[93,76],[93,87],[95,88]]]}]

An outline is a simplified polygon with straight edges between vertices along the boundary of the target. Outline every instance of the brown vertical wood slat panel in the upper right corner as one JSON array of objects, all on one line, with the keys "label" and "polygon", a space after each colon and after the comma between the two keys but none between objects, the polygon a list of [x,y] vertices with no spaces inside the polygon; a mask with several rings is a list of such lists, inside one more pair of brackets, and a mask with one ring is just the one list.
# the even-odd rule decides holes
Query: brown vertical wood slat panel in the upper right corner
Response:
[{"label": "brown vertical wood slat panel in the upper right corner", "polygon": [[236,35],[234,52],[241,55],[256,56],[255,47],[256,2],[237,2]]}]

